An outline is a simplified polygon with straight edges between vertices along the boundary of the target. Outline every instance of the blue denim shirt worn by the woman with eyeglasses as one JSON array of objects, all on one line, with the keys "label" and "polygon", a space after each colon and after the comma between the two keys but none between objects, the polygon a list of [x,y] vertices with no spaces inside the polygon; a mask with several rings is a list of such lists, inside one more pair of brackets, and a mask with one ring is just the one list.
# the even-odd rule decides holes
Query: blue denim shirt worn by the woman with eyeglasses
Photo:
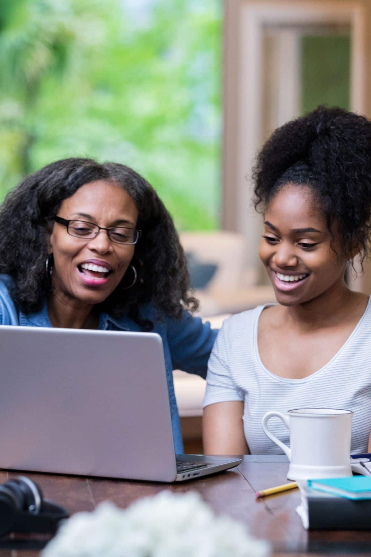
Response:
[{"label": "blue denim shirt worn by the woman with eyeglasses", "polygon": [[[26,315],[17,309],[11,299],[9,294],[11,284],[11,277],[0,275],[0,325],[51,327],[47,302],[45,301],[41,311]],[[185,372],[196,373],[206,378],[207,360],[209,359],[217,330],[210,329],[210,323],[203,324],[199,317],[192,317],[187,311],[183,312],[180,320],[170,319],[166,316],[163,319],[159,319],[151,304],[146,304],[142,307],[141,317],[143,319],[150,319],[154,324],[152,333],[158,333],[162,338],[175,452],[182,453],[183,444],[180,419],[172,381],[172,370],[182,369]],[[106,313],[101,313],[98,329],[108,331],[141,330],[140,325],[127,316],[113,319],[113,317]]]}]

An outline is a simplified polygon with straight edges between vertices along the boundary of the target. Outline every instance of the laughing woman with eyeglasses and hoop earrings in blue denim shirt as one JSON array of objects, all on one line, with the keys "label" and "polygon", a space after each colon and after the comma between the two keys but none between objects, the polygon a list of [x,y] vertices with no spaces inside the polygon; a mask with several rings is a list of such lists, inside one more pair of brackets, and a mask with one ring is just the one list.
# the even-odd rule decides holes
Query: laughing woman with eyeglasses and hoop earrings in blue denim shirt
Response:
[{"label": "laughing woman with eyeglasses and hoop earrings in blue denim shirt", "polygon": [[191,316],[184,251],[155,190],[122,164],[59,160],[0,207],[0,324],[162,337],[175,450],[172,370],[205,377],[216,331]]}]

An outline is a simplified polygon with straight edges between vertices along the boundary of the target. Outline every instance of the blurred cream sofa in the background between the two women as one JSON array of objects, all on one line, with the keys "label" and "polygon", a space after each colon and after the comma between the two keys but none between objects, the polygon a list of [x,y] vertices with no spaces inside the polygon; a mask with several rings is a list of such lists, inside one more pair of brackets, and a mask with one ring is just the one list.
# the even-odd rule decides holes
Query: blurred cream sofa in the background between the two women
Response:
[{"label": "blurred cream sofa in the background between the two women", "polygon": [[[275,301],[271,286],[258,285],[258,270],[246,261],[246,238],[236,232],[186,232],[182,246],[200,262],[217,265],[205,289],[195,290],[199,315],[220,328],[229,315]],[[197,375],[174,372],[174,389],[186,452],[202,452],[202,400],[206,382]]]}]

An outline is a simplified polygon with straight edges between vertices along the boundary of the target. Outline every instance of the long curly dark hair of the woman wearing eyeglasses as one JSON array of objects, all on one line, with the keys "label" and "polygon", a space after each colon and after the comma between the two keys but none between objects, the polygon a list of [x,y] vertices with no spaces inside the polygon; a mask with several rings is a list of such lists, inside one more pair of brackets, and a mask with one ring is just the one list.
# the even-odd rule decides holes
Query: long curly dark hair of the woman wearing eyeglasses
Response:
[{"label": "long curly dark hair of the woman wearing eyeglasses", "polygon": [[183,309],[195,311],[191,296],[185,253],[172,218],[154,188],[123,164],[100,164],[93,159],[58,160],[26,177],[9,192],[0,207],[0,272],[13,278],[11,296],[24,313],[39,311],[51,292],[45,272],[47,238],[51,219],[62,202],[82,185],[95,180],[120,184],[138,209],[140,240],[135,246],[132,265],[138,280],[126,290],[127,280],[98,309],[113,317],[129,315],[141,321],[140,305],[152,302],[159,314],[180,318]]}]

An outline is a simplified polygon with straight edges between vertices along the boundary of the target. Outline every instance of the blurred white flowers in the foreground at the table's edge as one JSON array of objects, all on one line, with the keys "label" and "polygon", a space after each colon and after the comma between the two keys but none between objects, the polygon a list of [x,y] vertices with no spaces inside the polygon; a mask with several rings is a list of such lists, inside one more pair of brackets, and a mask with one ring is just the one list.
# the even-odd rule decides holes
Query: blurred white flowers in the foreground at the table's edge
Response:
[{"label": "blurred white flowers in the foreground at the table's edge", "polygon": [[162,491],[126,510],[104,502],[65,521],[41,557],[267,557],[269,545],[215,516],[195,492]]}]

